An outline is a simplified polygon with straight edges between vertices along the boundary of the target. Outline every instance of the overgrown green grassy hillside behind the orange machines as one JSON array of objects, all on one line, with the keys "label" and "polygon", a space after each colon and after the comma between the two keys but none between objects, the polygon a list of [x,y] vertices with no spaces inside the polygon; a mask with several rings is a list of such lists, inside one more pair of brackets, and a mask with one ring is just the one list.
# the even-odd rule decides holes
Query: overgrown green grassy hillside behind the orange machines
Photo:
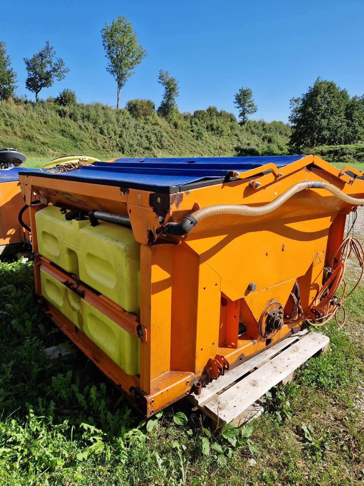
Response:
[{"label": "overgrown green grassy hillside behind the orange machines", "polygon": [[[0,104],[0,147],[15,147],[25,165],[42,167],[57,156],[82,153],[99,159],[165,156],[259,156],[289,154],[291,127],[282,121],[235,117],[214,106],[174,113],[168,121],[154,112],[136,116],[100,103],[62,106],[50,98],[37,104]],[[364,170],[364,144],[316,147],[314,153],[338,167]]]}]

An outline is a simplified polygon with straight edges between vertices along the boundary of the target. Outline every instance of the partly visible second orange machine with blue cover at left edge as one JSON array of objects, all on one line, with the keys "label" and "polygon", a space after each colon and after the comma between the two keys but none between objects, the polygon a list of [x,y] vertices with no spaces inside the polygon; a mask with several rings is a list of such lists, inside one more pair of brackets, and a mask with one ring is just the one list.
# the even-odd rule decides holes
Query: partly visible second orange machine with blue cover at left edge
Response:
[{"label": "partly visible second orange machine with blue cover at left edge", "polygon": [[[18,166],[25,160],[26,156],[15,149],[0,149],[0,255],[18,253],[24,250],[24,244],[30,244],[29,232],[18,221],[24,206]],[[28,211],[24,221],[29,226]]]}]

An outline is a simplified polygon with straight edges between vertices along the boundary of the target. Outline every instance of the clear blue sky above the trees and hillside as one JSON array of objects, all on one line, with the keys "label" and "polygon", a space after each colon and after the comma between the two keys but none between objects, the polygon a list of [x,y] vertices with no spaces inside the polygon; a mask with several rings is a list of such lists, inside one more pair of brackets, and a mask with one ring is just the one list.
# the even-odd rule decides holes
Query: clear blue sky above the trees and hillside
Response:
[{"label": "clear blue sky above the trees and hillside", "polygon": [[120,93],[161,101],[159,69],[177,78],[180,111],[215,105],[237,115],[234,94],[253,90],[252,118],[287,121],[289,100],[307,91],[317,76],[364,93],[363,0],[118,0],[1,1],[0,40],[25,88],[23,57],[47,40],[70,68],[66,79],[40,98],[74,89],[83,103],[116,105],[116,82],[106,71],[100,30],[118,15],[132,22],[148,57]]}]

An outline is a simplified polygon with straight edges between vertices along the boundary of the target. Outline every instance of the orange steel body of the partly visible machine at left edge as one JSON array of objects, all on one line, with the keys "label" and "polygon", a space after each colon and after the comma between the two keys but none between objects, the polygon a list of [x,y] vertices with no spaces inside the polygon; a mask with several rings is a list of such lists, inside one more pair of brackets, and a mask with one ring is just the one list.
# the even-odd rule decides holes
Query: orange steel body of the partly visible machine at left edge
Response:
[{"label": "orange steel body of the partly visible machine at left edge", "polygon": [[[0,247],[21,243],[30,244],[29,233],[18,222],[18,214],[24,206],[19,181],[1,182],[0,184]],[[25,222],[29,225],[27,214]],[[28,221],[27,221],[28,220]]]}]

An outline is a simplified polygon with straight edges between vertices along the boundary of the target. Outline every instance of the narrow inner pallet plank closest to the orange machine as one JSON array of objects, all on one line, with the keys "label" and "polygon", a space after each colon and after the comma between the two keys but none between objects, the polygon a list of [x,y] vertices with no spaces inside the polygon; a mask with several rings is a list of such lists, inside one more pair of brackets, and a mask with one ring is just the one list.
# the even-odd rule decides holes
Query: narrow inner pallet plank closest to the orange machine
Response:
[{"label": "narrow inner pallet plank closest to the orange machine", "polygon": [[236,366],[236,368],[227,371],[225,375],[220,376],[217,380],[213,380],[211,383],[208,383],[206,386],[202,388],[201,395],[189,395],[188,399],[194,405],[197,406],[202,405],[203,402],[213,397],[215,393],[218,393],[226,386],[229,386],[230,384],[232,384],[242,376],[246,375],[247,373],[249,373],[250,370],[262,366],[268,360],[270,360],[274,355],[279,353],[282,349],[285,349],[286,347],[295,343],[296,341],[298,341],[298,339],[300,339],[305,334],[307,334],[306,329],[302,331],[298,331],[296,332],[296,334],[292,336],[288,336],[285,339],[282,339],[282,341],[275,344],[274,346],[268,347],[261,353],[250,358],[248,361],[245,361],[244,363]]}]

